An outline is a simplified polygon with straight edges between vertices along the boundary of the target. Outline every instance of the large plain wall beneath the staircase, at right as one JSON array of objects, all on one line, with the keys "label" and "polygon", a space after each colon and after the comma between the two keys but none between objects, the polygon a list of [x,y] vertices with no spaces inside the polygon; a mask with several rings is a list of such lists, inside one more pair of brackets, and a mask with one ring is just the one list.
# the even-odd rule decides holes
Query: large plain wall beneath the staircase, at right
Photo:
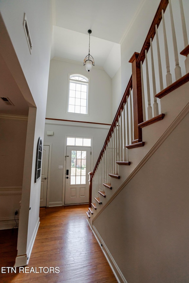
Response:
[{"label": "large plain wall beneath the staircase, at right", "polygon": [[94,220],[127,282],[188,282],[189,114]]}]

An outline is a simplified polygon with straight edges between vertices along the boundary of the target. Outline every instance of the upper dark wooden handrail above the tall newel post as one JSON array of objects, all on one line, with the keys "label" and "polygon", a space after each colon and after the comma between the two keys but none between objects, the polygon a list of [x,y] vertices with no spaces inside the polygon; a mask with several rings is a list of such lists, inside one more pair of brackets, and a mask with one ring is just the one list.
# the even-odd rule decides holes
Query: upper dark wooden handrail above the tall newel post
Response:
[{"label": "upper dark wooden handrail above the tall newel post", "polygon": [[149,48],[150,48],[150,38],[153,40],[154,36],[156,34],[156,25],[157,28],[159,27],[159,24],[162,20],[162,10],[165,12],[167,6],[169,4],[168,0],[161,0],[159,3],[159,6],[157,8],[157,12],[155,14],[155,17],[152,21],[151,27],[149,29],[149,32],[146,36],[146,39],[144,41],[143,47],[141,49],[140,55],[137,59],[137,65],[140,65],[140,62],[142,61],[142,63],[144,62],[145,59],[145,50],[148,52]]}]

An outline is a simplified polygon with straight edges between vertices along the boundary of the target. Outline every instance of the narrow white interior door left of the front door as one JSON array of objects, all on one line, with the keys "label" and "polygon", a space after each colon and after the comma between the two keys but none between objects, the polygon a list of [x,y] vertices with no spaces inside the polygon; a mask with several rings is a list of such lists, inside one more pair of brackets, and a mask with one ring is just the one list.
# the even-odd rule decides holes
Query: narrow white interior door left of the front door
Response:
[{"label": "narrow white interior door left of the front door", "polygon": [[49,145],[44,145],[42,169],[41,169],[40,206],[46,206],[47,204],[48,161],[49,161]]}]

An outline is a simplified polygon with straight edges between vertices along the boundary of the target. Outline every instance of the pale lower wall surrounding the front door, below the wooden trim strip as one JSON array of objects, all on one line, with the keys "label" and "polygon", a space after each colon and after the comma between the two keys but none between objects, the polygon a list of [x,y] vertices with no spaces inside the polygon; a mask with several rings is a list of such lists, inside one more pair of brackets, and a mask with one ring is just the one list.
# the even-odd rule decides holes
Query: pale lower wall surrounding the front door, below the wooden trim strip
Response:
[{"label": "pale lower wall surrounding the front door, below the wooden trim strip", "polygon": [[[50,177],[48,178],[50,190],[47,206],[64,205],[66,136],[92,138],[92,171],[108,130],[109,126],[97,124],[67,122],[66,125],[63,121],[46,120],[44,143],[52,144]],[[47,131],[53,131],[54,135],[47,136]],[[58,169],[58,165],[63,165],[63,169]]]}]

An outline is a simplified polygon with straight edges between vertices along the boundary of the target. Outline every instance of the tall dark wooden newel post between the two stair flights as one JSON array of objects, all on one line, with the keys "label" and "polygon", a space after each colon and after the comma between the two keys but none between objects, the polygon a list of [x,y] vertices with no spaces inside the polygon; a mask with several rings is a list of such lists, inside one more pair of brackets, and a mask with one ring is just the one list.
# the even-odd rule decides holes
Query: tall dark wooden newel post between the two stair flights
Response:
[{"label": "tall dark wooden newel post between the two stair flights", "polygon": [[141,86],[141,68],[137,64],[139,53],[135,52],[131,59],[132,63],[132,85],[133,85],[133,120],[134,120],[134,138],[132,144],[142,142],[142,129],[138,124],[143,122],[142,112],[142,86]]}]

